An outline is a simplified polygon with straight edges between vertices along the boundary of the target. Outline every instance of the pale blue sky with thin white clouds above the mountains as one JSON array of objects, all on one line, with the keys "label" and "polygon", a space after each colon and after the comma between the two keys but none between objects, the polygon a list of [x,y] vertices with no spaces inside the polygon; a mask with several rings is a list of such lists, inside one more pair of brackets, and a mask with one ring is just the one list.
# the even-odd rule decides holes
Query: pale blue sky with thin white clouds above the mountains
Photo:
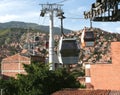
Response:
[{"label": "pale blue sky with thin white clouds above the mountains", "polygon": [[[63,27],[78,31],[90,27],[89,19],[84,19],[83,12],[89,11],[96,0],[0,0],[0,23],[22,21],[49,26],[49,15],[40,16],[40,4],[59,3],[64,16]],[[54,27],[60,27],[60,19],[54,13]],[[114,33],[120,33],[120,22],[92,22],[92,26]]]}]

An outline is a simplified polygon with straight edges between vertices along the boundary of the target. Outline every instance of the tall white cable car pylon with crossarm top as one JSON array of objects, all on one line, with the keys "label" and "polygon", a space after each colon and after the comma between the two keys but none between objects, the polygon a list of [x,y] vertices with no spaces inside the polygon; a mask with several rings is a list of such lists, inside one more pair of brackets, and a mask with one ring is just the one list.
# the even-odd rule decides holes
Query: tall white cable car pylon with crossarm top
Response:
[{"label": "tall white cable car pylon with crossarm top", "polygon": [[49,13],[50,17],[50,25],[49,25],[49,63],[50,70],[55,70],[55,59],[54,59],[54,32],[53,32],[53,16],[54,12],[61,12],[61,4],[40,4],[42,6],[42,10],[40,16],[44,17],[46,13]]}]

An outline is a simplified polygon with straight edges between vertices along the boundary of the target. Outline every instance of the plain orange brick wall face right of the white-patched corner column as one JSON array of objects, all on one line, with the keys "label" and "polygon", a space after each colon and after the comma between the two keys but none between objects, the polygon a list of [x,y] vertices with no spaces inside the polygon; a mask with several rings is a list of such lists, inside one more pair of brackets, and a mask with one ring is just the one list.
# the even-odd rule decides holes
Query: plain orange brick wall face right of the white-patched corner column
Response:
[{"label": "plain orange brick wall face right of the white-patched corner column", "polygon": [[91,84],[94,89],[120,90],[120,42],[111,44],[112,64],[91,65]]}]

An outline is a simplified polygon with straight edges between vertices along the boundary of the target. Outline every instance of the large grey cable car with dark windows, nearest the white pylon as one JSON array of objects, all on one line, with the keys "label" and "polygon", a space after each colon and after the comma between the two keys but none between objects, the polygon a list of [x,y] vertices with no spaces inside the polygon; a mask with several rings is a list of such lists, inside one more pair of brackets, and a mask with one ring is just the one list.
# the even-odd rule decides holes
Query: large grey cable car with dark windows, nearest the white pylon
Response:
[{"label": "large grey cable car with dark windows, nearest the white pylon", "polygon": [[61,37],[58,46],[58,60],[62,64],[77,64],[80,48],[76,38]]}]

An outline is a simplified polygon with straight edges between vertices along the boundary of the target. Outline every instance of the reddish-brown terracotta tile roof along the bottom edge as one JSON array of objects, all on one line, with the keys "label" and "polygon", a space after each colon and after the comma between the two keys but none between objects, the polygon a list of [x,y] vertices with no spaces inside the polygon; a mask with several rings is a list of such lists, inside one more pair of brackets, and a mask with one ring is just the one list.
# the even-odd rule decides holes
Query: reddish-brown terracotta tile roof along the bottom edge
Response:
[{"label": "reddish-brown terracotta tile roof along the bottom edge", "polygon": [[52,95],[120,95],[120,91],[71,89],[57,91]]}]

